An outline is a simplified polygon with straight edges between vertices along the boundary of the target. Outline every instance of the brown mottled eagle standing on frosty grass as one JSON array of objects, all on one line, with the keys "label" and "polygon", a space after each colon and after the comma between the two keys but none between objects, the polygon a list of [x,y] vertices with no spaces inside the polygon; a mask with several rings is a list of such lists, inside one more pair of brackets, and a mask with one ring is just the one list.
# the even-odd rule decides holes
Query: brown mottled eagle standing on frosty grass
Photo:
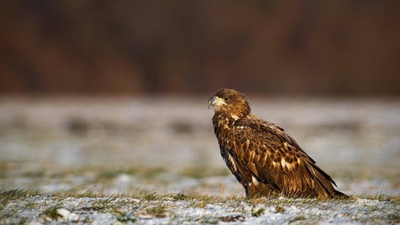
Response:
[{"label": "brown mottled eagle standing on frosty grass", "polygon": [[222,158],[247,197],[348,197],[283,128],[252,115],[241,92],[217,90],[210,106]]}]

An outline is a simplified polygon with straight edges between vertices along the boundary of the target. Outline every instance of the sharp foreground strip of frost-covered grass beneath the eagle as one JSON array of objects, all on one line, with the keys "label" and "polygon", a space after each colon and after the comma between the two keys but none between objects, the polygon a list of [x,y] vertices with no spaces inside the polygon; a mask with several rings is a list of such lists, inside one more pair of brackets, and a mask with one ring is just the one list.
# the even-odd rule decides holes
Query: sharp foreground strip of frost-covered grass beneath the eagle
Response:
[{"label": "sharp foreground strip of frost-covered grass beneath the eagle", "polygon": [[248,224],[329,222],[399,223],[400,197],[351,200],[244,199],[210,195],[47,194],[29,190],[1,192],[0,224],[28,222]]}]

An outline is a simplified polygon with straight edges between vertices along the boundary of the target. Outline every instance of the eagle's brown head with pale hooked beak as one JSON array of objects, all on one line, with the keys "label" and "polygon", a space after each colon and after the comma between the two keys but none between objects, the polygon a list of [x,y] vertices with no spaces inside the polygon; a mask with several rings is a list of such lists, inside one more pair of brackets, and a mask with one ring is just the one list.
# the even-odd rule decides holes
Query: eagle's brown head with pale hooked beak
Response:
[{"label": "eagle's brown head with pale hooked beak", "polygon": [[214,106],[215,114],[222,114],[239,119],[250,114],[250,105],[244,94],[234,89],[222,88],[217,90],[208,100],[208,107]]}]

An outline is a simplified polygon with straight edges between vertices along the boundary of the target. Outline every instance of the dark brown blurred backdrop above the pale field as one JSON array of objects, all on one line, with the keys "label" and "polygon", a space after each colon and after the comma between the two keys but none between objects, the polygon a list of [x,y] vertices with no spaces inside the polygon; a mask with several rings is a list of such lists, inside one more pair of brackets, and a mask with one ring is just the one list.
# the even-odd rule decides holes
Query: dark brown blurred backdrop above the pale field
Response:
[{"label": "dark brown blurred backdrop above the pale field", "polygon": [[400,94],[400,1],[5,0],[0,15],[3,94]]}]

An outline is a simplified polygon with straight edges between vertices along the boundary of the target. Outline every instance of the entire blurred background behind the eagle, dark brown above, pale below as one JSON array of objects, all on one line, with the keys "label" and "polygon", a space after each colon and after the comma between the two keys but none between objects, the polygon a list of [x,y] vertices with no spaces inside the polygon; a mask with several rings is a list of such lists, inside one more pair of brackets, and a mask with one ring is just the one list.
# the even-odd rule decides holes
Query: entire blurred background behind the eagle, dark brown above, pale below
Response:
[{"label": "entire blurred background behind the eagle, dark brown above, pale below", "polygon": [[400,1],[4,0],[0,15],[0,190],[244,194],[206,108],[235,88],[339,190],[400,193]]}]

